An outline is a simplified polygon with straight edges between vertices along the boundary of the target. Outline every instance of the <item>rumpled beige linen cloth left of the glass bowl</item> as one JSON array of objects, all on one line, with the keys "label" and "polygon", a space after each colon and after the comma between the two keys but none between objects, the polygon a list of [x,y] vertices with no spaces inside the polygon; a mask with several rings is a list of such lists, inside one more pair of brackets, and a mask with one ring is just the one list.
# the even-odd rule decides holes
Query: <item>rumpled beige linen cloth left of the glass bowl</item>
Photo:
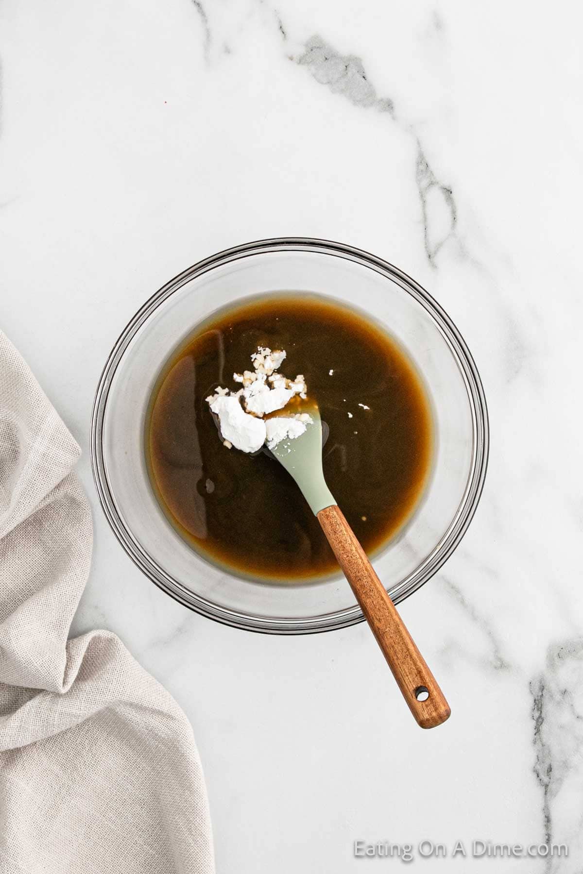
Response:
[{"label": "rumpled beige linen cloth left of the glass bowl", "polygon": [[0,872],[211,874],[184,713],[115,635],[67,640],[93,537],[79,454],[0,332]]}]

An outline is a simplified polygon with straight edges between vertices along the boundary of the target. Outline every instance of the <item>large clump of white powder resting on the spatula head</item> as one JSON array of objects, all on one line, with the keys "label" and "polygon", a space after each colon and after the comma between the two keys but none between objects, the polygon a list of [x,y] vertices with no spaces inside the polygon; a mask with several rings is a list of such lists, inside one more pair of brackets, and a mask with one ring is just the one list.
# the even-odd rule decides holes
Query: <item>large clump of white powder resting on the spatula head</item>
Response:
[{"label": "large clump of white powder resting on the spatula head", "polygon": [[234,381],[243,387],[238,392],[218,388],[206,399],[219,417],[220,434],[229,448],[257,452],[267,442],[267,447],[274,449],[281,440],[295,440],[312,422],[307,413],[263,419],[282,410],[295,395],[306,398],[306,382],[301,373],[288,379],[275,372],[285,357],[285,350],[259,346],[251,356],[253,371],[233,373]]}]

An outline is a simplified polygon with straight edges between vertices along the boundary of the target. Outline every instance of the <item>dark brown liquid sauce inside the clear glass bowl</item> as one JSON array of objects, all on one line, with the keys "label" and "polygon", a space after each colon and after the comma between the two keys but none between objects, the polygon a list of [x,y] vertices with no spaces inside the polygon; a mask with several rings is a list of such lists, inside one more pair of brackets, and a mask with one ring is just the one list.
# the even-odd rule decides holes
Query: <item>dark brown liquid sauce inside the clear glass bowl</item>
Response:
[{"label": "dark brown liquid sauce inside the clear glass bowl", "polygon": [[223,446],[205,401],[218,385],[239,387],[233,372],[251,367],[257,346],[285,349],[281,372],[306,378],[330,427],[326,481],[369,553],[420,499],[432,454],[430,407],[390,336],[316,295],[249,298],[223,310],[163,368],[145,446],[156,496],[177,530],[239,575],[279,582],[326,576],[337,572],[336,559],[295,482],[267,455]]}]

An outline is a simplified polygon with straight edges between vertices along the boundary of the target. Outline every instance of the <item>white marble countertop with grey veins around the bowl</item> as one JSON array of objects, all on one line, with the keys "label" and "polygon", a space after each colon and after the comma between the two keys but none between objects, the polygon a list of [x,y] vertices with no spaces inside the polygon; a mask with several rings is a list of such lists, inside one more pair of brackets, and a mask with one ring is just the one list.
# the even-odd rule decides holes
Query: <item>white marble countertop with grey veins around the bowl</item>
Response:
[{"label": "white marble countertop with grey veins around the bowl", "polygon": [[[581,871],[581,24],[561,2],[0,5],[0,320],[84,449],[74,630],[114,630],[191,718],[220,874],[399,869],[354,858],[358,838],[551,839],[560,863],[455,864]],[[278,235],[404,268],[482,373],[481,506],[402,607],[453,707],[434,732],[364,626],[281,638],[191,614],[96,501],[89,417],[123,325],[201,257]]]}]

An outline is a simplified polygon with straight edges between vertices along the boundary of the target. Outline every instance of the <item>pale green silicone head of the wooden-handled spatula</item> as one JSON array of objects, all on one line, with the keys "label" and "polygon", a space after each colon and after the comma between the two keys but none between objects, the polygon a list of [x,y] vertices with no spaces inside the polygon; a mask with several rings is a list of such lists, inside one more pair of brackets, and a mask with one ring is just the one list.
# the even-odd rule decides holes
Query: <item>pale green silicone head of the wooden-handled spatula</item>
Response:
[{"label": "pale green silicone head of the wooden-handled spatula", "polygon": [[322,469],[322,419],[315,404],[302,406],[301,413],[309,413],[312,423],[304,434],[294,440],[285,438],[271,449],[271,454],[293,476],[316,516],[324,507],[337,503],[324,480]]}]

